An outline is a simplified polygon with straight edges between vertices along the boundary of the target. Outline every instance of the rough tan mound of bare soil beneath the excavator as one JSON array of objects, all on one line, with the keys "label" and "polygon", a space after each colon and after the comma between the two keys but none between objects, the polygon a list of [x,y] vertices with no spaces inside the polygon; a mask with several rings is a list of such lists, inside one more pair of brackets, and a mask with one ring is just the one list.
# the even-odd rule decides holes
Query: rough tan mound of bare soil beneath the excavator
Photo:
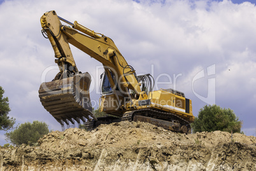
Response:
[{"label": "rough tan mound of bare soil beneath the excavator", "polygon": [[1,148],[0,158],[0,170],[256,170],[256,137],[122,121],[50,132],[38,146]]}]

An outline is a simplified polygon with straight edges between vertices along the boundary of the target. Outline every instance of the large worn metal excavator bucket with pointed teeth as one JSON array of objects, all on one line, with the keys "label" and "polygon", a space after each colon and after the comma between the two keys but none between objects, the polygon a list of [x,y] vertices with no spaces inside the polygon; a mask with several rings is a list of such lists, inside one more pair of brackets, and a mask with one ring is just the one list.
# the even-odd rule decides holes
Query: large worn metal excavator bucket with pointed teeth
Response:
[{"label": "large worn metal excavator bucket with pointed teeth", "polygon": [[90,102],[90,74],[76,74],[73,77],[42,83],[39,88],[39,98],[43,107],[57,120],[62,129],[64,123],[69,128],[75,121],[80,125],[82,120],[97,120],[92,113]]}]

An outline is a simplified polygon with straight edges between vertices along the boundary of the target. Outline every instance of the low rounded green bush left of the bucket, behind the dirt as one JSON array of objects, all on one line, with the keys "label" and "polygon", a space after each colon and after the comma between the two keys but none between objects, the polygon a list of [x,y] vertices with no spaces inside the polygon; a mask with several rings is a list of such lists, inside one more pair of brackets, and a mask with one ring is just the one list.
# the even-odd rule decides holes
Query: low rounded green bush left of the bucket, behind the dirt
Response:
[{"label": "low rounded green bush left of the bucket, behind the dirt", "polygon": [[43,135],[49,133],[48,125],[45,122],[33,121],[18,125],[15,130],[5,133],[7,140],[18,146],[21,144],[32,145]]}]

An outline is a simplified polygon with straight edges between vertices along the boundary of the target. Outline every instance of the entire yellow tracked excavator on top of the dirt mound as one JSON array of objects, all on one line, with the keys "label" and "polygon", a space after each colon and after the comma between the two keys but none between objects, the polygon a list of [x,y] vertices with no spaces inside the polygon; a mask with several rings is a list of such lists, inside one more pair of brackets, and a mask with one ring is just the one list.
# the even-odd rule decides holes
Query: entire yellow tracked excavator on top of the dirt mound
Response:
[{"label": "entire yellow tracked excavator on top of the dirt mound", "polygon": [[[65,123],[69,128],[82,121],[90,129],[101,123],[142,121],[173,132],[191,133],[190,123],[194,121],[191,100],[171,88],[153,90],[152,76],[137,76],[111,38],[76,21],[69,22],[55,11],[44,13],[40,21],[43,36],[52,44],[59,73],[52,81],[41,83],[39,99],[62,129]],[[108,116],[94,115],[90,74],[78,71],[69,44],[103,64],[99,109]]]}]

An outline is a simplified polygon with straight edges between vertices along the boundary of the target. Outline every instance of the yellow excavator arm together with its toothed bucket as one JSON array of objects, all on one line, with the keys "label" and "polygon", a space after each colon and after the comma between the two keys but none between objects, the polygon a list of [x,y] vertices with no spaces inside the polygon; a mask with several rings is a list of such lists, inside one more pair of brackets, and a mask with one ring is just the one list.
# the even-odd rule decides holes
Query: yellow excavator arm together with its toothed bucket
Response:
[{"label": "yellow excavator arm together with its toothed bucket", "polygon": [[[74,124],[77,121],[80,124],[80,120],[85,123],[86,119],[90,120],[90,118],[97,120],[90,104],[90,74],[88,72],[82,74],[78,71],[69,44],[73,44],[103,64],[113,92],[106,99],[115,100],[117,103],[115,111],[125,107],[122,104],[125,97],[132,104],[134,97],[139,99],[145,94],[134,76],[134,69],[127,64],[110,38],[96,34],[78,22],[74,24],[68,22],[58,17],[55,11],[44,13],[40,21],[43,35],[52,44],[55,62],[60,72],[53,81],[41,84],[39,97],[45,109],[59,121],[62,127],[64,123],[69,125],[70,122]],[[60,21],[66,22],[69,26],[62,25]],[[146,98],[145,95],[143,97]],[[122,112],[115,115],[122,116]]]}]

